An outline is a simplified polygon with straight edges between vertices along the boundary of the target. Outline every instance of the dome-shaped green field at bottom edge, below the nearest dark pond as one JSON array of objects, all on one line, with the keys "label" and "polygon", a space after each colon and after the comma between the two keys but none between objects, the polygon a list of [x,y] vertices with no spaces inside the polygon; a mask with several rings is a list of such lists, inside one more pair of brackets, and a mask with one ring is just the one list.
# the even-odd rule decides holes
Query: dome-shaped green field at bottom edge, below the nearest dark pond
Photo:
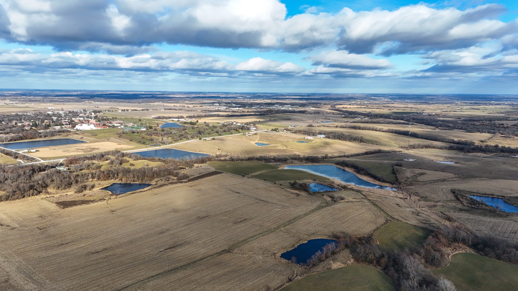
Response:
[{"label": "dome-shaped green field at bottom edge, below the nearest dark pond", "polygon": [[311,274],[282,288],[283,291],[394,291],[391,280],[376,268],[351,265]]}]

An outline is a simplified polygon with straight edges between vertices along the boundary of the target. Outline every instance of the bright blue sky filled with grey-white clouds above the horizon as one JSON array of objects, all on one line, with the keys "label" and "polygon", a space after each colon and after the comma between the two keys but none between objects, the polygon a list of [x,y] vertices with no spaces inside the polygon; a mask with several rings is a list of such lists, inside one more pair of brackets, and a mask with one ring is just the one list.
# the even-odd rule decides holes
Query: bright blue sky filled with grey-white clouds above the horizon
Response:
[{"label": "bright blue sky filled with grey-white clouds above the horizon", "polygon": [[0,0],[0,88],[518,94],[518,1]]}]

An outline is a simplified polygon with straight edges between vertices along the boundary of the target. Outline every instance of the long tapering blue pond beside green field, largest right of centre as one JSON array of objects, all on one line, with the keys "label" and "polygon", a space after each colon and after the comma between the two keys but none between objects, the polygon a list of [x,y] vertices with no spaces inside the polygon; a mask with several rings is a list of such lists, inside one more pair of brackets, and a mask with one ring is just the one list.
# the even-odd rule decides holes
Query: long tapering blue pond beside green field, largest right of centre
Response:
[{"label": "long tapering blue pond beside green field, largest right of centre", "polygon": [[302,170],[306,172],[310,172],[313,174],[317,174],[320,176],[324,176],[330,179],[335,179],[338,181],[341,181],[346,184],[353,184],[356,186],[361,187],[367,187],[367,188],[377,188],[377,189],[385,189],[385,190],[394,190],[397,191],[396,188],[387,187],[378,185],[375,183],[371,183],[368,181],[365,181],[356,174],[351,173],[350,171],[346,171],[342,168],[339,168],[334,165],[292,165],[292,166],[286,166],[284,169],[295,169],[295,170]]}]

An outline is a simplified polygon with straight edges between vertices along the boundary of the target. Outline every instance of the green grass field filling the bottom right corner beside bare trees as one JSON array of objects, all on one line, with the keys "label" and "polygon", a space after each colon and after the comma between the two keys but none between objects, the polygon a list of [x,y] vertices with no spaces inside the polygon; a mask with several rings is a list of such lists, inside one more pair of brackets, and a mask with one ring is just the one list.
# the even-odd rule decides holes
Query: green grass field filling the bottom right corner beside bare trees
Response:
[{"label": "green grass field filling the bottom right corner beside bare trees", "polygon": [[518,265],[477,254],[454,254],[450,265],[432,271],[451,280],[458,291],[518,290]]}]

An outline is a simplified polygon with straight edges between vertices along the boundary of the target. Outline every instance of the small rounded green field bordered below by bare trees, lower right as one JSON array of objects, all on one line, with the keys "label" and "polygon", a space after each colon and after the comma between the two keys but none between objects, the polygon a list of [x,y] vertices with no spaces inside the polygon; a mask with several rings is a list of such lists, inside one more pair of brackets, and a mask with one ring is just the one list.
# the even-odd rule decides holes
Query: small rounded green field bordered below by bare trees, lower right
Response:
[{"label": "small rounded green field bordered below by bare trees, lower right", "polygon": [[374,232],[380,248],[390,251],[401,251],[419,245],[430,233],[408,223],[393,221]]}]

